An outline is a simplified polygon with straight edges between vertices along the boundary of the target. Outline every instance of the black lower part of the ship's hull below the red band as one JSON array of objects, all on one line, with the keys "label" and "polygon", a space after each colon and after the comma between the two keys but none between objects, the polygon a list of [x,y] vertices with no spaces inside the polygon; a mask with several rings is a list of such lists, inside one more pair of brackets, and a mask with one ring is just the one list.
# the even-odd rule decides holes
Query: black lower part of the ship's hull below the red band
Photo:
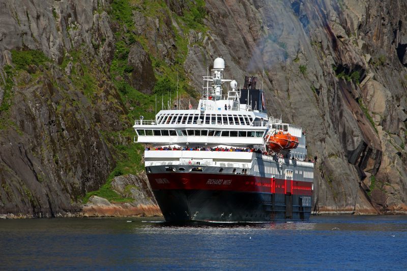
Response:
[{"label": "black lower part of the ship's hull below the red band", "polygon": [[301,195],[205,190],[161,190],[154,195],[167,222],[301,221],[311,214]]}]

